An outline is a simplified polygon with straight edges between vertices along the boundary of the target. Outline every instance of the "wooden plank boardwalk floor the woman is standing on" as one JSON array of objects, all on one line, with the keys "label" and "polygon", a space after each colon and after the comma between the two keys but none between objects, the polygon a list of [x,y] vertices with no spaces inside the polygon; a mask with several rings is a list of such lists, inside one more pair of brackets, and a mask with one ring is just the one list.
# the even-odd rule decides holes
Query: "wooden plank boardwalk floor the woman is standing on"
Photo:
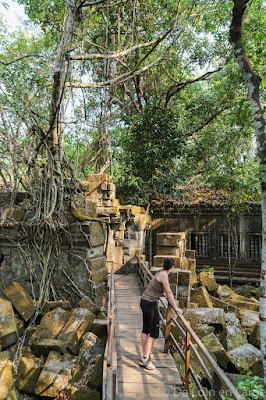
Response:
[{"label": "wooden plank boardwalk floor the woman is standing on", "polygon": [[152,353],[156,369],[139,366],[142,353],[141,289],[137,276],[115,275],[115,347],[117,352],[117,400],[189,400],[172,356],[163,353],[160,332]]}]

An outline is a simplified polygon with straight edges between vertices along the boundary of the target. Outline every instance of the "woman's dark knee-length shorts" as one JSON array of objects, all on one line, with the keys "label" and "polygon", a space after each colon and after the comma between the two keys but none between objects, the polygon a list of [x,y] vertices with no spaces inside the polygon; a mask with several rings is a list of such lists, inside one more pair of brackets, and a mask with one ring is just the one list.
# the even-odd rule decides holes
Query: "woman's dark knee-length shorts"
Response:
[{"label": "woman's dark knee-length shorts", "polygon": [[156,301],[140,300],[140,308],[143,314],[143,329],[142,333],[150,335],[157,339],[159,336],[159,312]]}]

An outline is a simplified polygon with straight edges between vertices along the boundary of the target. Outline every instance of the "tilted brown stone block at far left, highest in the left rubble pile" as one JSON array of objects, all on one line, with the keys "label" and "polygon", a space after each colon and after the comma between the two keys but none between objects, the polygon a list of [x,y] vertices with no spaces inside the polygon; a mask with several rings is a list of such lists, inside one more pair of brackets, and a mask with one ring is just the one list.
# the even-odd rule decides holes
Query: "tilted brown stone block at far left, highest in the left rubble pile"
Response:
[{"label": "tilted brown stone block at far left, highest in the left rubble pile", "polygon": [[4,289],[4,293],[24,321],[27,322],[35,313],[35,304],[23,286],[18,282],[12,282],[8,288]]}]

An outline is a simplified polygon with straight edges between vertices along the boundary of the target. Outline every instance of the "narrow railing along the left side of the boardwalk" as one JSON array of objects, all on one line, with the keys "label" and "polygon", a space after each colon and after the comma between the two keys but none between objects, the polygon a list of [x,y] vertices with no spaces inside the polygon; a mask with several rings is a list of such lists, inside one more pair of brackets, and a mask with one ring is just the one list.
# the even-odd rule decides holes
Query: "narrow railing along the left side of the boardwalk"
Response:
[{"label": "narrow railing along the left side of the boardwalk", "polygon": [[108,331],[103,360],[102,399],[114,400],[116,397],[117,358],[115,351],[115,285],[114,265],[108,278]]}]

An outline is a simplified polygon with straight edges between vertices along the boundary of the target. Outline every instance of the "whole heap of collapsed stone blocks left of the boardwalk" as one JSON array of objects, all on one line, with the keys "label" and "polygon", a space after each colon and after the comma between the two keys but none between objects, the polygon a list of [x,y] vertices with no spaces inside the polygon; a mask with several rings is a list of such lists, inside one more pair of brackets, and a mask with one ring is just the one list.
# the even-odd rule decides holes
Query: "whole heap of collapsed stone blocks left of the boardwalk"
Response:
[{"label": "whole heap of collapsed stone blocks left of the boardwalk", "polygon": [[[106,326],[95,330],[95,319],[105,318],[97,305],[89,297],[73,309],[68,301],[50,301],[39,324],[32,326],[29,318],[36,309],[22,285],[12,283],[4,293],[0,400],[56,399],[63,393],[69,400],[100,400]],[[16,321],[22,319],[19,335]]]}]

